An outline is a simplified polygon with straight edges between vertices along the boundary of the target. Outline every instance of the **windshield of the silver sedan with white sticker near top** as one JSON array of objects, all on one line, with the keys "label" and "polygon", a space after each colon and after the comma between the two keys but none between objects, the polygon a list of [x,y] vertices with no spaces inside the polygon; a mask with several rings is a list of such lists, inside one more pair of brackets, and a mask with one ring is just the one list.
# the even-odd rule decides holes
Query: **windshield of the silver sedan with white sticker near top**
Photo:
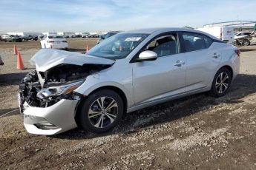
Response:
[{"label": "windshield of the silver sedan with white sticker near top", "polygon": [[134,50],[148,34],[121,33],[111,36],[88,51],[88,55],[100,58],[121,59]]}]

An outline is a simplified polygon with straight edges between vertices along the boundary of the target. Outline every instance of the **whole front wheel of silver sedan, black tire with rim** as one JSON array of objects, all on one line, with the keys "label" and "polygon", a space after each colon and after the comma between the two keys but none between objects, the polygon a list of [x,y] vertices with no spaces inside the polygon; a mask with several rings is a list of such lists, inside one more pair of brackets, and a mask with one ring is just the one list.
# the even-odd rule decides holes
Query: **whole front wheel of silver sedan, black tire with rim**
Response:
[{"label": "whole front wheel of silver sedan, black tire with rim", "polygon": [[[99,100],[99,103],[97,100]],[[103,109],[101,109],[102,102]],[[111,109],[106,109],[108,105],[111,106]],[[89,112],[91,112],[91,118],[89,118]],[[123,112],[122,98],[113,90],[102,89],[82,101],[79,109],[79,123],[82,129],[89,132],[103,133],[116,126],[122,118]]]}]

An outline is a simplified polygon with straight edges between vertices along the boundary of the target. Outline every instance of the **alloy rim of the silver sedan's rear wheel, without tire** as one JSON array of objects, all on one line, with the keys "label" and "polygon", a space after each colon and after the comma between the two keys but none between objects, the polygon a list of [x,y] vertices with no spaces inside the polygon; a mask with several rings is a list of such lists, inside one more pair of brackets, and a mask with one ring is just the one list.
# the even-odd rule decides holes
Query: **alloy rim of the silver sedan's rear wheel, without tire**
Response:
[{"label": "alloy rim of the silver sedan's rear wheel, without tire", "polygon": [[226,92],[229,87],[229,75],[226,72],[220,72],[217,76],[215,88],[218,93],[222,94]]}]

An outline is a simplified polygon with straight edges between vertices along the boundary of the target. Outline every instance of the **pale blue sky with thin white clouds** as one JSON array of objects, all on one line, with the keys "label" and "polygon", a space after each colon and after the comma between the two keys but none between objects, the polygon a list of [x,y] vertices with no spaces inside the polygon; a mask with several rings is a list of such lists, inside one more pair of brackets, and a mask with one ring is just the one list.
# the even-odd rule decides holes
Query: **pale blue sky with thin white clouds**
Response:
[{"label": "pale blue sky with thin white clouds", "polygon": [[256,18],[255,0],[1,0],[0,33],[203,27]]}]

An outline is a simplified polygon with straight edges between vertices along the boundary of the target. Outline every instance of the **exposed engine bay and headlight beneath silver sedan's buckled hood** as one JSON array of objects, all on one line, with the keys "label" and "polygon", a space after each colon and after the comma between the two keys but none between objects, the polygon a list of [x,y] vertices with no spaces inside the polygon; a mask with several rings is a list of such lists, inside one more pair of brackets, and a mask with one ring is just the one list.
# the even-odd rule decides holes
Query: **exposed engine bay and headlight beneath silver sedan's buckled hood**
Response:
[{"label": "exposed engine bay and headlight beneath silver sedan's buckled hood", "polygon": [[[24,102],[30,106],[47,107],[62,99],[79,99],[73,92],[88,75],[111,67],[111,64],[59,64],[45,72],[34,70],[19,85],[20,107]],[[22,110],[23,111],[23,110]]]}]

